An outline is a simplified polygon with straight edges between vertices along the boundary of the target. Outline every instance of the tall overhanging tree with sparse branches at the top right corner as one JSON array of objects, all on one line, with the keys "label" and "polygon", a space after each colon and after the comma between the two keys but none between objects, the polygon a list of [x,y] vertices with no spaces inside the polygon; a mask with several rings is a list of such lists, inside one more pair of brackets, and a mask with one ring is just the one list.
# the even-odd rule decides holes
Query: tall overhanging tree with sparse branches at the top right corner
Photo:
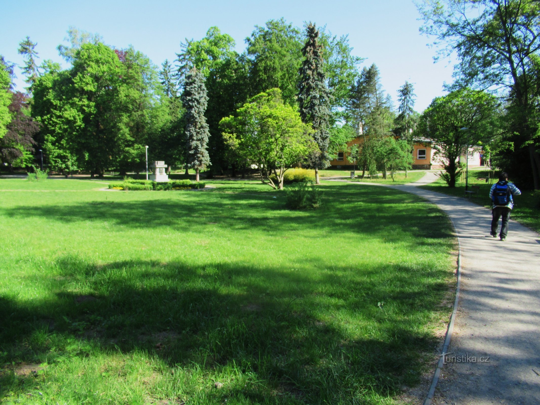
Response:
[{"label": "tall overhanging tree with sparse branches at the top right corner", "polygon": [[[424,0],[421,29],[446,45],[441,56],[457,52],[456,88],[506,90],[508,140],[514,151],[506,169],[540,189],[538,121],[533,93],[535,56],[540,50],[540,2],[536,0]],[[528,168],[523,166],[528,163]]]}]

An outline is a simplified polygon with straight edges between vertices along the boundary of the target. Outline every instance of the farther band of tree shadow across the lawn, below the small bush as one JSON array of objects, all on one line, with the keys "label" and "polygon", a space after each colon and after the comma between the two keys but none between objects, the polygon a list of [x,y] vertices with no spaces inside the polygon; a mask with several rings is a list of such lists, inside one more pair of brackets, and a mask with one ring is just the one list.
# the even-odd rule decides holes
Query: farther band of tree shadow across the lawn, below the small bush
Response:
[{"label": "farther band of tree shadow across the lawn, below the small bush", "polygon": [[[325,193],[323,206],[315,211],[286,210],[283,192],[224,185],[203,192],[127,192],[145,198],[129,201],[110,193],[106,201],[23,205],[0,209],[0,214],[59,222],[107,221],[133,228],[167,227],[178,232],[210,226],[233,231],[258,229],[277,236],[316,228],[320,234],[355,232],[389,242],[402,242],[408,234],[413,244],[425,243],[422,238],[451,237],[450,228],[441,226],[448,224],[446,216],[434,205],[426,207],[414,195],[383,187],[326,185],[321,189]],[[146,199],[150,195],[152,199]]]}]

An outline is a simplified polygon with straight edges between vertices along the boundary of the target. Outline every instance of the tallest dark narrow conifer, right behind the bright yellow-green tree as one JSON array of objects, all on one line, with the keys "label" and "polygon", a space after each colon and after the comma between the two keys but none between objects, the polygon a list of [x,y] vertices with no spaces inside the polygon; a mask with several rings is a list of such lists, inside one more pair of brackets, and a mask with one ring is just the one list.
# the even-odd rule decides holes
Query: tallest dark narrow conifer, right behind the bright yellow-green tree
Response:
[{"label": "tallest dark narrow conifer, right behind the bright yellow-green tree", "polygon": [[315,183],[319,182],[319,169],[329,166],[329,118],[330,93],[326,86],[323,47],[319,42],[319,30],[309,23],[306,28],[307,40],[302,48],[305,57],[300,66],[298,102],[302,122],[313,127],[313,139],[319,151],[312,156],[311,166],[315,169]]}]

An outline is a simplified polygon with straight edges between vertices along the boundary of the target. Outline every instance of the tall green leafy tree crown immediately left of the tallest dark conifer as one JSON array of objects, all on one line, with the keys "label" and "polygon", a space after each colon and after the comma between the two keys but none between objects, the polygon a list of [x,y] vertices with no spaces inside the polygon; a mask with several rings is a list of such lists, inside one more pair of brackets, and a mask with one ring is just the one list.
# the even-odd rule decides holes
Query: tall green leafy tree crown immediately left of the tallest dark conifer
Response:
[{"label": "tall green leafy tree crown immediately left of the tallest dark conifer", "polygon": [[265,26],[255,25],[246,44],[251,60],[251,95],[277,87],[285,102],[294,105],[298,94],[298,69],[302,64],[300,30],[283,18],[271,19]]}]

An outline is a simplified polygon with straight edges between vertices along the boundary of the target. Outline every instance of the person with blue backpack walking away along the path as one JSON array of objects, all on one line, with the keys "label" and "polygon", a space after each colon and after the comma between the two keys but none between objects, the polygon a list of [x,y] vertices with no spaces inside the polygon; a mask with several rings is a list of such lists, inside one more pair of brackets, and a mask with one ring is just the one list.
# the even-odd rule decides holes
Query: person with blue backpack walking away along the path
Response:
[{"label": "person with blue backpack walking away along the path", "polygon": [[491,219],[491,236],[497,237],[497,228],[499,218],[502,217],[501,233],[499,238],[505,240],[508,234],[508,220],[510,219],[510,211],[514,208],[514,195],[521,194],[519,188],[514,184],[508,183],[508,173],[502,172],[499,175],[499,181],[491,186],[489,190],[489,198],[492,202],[492,219]]}]

